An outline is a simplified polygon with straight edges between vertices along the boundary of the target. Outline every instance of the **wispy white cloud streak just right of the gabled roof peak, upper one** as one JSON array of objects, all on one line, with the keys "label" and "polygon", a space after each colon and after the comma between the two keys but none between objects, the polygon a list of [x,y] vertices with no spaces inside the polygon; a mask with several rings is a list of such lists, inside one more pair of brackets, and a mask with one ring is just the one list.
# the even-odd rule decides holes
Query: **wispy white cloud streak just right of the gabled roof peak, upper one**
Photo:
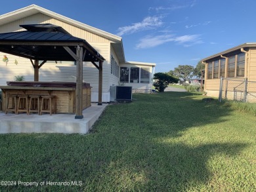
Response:
[{"label": "wispy white cloud streak just right of the gabled roof peak, upper one", "polygon": [[121,36],[124,34],[131,34],[135,33],[137,31],[142,31],[146,29],[154,29],[158,28],[163,24],[161,22],[161,17],[158,16],[148,16],[142,20],[142,22],[138,22],[135,24],[132,24],[131,26],[124,26],[121,28],[118,28],[118,33],[117,35]]}]

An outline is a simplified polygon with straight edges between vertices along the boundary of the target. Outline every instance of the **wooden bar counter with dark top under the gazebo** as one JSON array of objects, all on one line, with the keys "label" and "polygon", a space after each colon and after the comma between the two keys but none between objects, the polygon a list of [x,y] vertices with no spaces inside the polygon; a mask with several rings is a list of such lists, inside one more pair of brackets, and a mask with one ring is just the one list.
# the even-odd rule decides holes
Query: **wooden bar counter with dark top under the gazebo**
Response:
[{"label": "wooden bar counter with dark top under the gazebo", "polygon": [[[2,111],[6,109],[7,94],[14,95],[53,95],[56,98],[56,113],[75,114],[75,83],[70,82],[34,82],[8,81],[2,90]],[[91,86],[83,83],[83,109],[91,106]]]}]

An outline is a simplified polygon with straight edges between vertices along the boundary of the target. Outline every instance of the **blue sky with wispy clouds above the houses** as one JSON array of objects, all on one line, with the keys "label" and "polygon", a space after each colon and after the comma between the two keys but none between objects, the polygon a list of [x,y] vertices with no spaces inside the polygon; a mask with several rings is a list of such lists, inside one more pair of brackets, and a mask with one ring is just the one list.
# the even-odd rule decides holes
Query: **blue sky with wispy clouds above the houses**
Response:
[{"label": "blue sky with wispy clouds above the houses", "polygon": [[121,36],[125,60],[156,72],[256,42],[255,0],[9,0],[0,14],[32,4]]}]

